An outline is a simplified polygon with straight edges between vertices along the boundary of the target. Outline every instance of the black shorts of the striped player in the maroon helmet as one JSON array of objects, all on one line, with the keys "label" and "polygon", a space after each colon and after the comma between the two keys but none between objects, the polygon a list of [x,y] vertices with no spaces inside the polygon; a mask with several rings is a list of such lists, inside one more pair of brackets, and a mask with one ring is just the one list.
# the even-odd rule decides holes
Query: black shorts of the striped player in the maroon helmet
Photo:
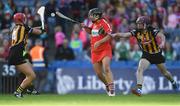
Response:
[{"label": "black shorts of the striped player in the maroon helmet", "polygon": [[147,59],[151,64],[161,64],[165,63],[165,58],[162,55],[162,52],[156,54],[149,54],[147,52],[143,52],[142,57]]}]

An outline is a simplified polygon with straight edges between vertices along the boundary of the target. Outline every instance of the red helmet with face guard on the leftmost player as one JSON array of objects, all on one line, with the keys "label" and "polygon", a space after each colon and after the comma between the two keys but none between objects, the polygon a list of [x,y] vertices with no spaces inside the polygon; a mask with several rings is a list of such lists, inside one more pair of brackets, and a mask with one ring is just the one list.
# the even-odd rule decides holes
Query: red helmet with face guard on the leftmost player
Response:
[{"label": "red helmet with face guard on the leftmost player", "polygon": [[14,22],[15,23],[25,23],[26,21],[26,15],[24,13],[16,13],[13,16]]}]

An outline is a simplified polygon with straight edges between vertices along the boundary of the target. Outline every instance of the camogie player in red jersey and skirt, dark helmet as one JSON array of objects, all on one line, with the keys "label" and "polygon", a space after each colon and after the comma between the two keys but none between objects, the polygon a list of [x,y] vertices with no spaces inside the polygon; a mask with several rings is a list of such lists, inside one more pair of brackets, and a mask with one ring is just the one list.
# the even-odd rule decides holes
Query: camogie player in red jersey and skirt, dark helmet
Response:
[{"label": "camogie player in red jersey and skirt, dark helmet", "polygon": [[115,96],[115,86],[113,75],[110,69],[110,61],[112,58],[111,40],[103,40],[103,38],[111,34],[112,29],[102,17],[102,11],[93,8],[88,13],[89,19],[92,21],[90,27],[83,27],[91,37],[91,60],[94,70],[98,78],[106,85],[106,91],[109,96]]}]

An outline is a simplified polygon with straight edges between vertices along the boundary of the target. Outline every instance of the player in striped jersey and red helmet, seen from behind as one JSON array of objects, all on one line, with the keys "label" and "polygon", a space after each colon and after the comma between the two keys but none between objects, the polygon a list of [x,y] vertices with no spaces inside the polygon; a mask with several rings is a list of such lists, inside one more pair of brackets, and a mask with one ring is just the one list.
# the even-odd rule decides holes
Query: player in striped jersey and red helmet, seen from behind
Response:
[{"label": "player in striped jersey and red helmet, seen from behind", "polygon": [[25,88],[31,85],[36,75],[32,66],[26,61],[26,44],[29,33],[42,34],[44,30],[40,28],[30,28],[26,22],[24,13],[16,13],[13,16],[15,26],[12,30],[12,40],[10,53],[8,58],[9,65],[15,65],[16,69],[26,75],[20,86],[14,92],[17,98],[23,97],[22,92]]}]

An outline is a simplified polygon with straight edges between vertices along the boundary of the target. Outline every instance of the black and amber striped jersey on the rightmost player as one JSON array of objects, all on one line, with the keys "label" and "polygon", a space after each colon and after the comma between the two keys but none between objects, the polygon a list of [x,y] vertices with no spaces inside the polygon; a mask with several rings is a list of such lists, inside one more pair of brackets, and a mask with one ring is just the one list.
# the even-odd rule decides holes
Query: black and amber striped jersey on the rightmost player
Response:
[{"label": "black and amber striped jersey on the rightmost player", "polygon": [[150,27],[144,31],[134,29],[131,31],[131,34],[136,37],[138,45],[143,52],[155,54],[161,52],[156,41],[156,35],[158,32],[158,29]]}]

